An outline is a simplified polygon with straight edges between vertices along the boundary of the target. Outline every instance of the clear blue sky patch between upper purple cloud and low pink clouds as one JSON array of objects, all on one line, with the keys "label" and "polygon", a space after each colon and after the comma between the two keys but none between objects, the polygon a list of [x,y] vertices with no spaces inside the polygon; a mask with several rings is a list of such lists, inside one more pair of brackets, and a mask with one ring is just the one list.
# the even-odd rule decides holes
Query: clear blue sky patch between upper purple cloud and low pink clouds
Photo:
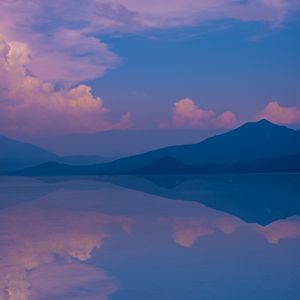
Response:
[{"label": "clear blue sky patch between upper purple cloud and low pink clouds", "polygon": [[[227,25],[227,26],[226,26]],[[300,21],[282,28],[222,22],[206,29],[107,37],[120,65],[89,82],[113,110],[129,108],[140,122],[170,117],[190,97],[217,112],[251,118],[270,100],[297,106],[300,95]]]}]

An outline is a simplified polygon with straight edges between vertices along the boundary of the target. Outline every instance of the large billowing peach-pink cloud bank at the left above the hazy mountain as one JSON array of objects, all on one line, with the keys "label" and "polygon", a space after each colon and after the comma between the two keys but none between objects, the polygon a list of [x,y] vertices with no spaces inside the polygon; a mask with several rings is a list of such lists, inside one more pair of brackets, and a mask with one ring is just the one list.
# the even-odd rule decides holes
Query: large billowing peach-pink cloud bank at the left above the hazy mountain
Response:
[{"label": "large billowing peach-pink cloud bank at the left above the hazy mountain", "polygon": [[87,85],[57,89],[31,75],[27,44],[0,36],[0,131],[7,134],[64,134],[127,129],[130,113],[108,119],[102,99]]}]

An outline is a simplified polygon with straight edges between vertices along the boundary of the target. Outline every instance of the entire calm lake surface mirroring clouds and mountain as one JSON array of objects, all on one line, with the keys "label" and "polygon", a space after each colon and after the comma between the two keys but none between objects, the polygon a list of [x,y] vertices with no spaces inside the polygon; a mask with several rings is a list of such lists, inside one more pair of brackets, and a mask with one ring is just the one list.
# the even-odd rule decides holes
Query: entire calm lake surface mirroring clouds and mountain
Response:
[{"label": "entire calm lake surface mirroring clouds and mountain", "polygon": [[300,175],[0,178],[0,300],[300,299]]}]

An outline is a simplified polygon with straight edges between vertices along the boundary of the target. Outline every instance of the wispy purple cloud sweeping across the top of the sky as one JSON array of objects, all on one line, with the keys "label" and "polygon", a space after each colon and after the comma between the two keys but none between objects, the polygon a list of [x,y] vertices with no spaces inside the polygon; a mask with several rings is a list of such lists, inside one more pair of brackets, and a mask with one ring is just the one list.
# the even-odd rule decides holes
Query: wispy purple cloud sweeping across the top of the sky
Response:
[{"label": "wispy purple cloud sweeping across the top of the sky", "polygon": [[148,32],[235,19],[281,26],[297,0],[1,0],[0,28],[31,45],[29,70],[43,80],[81,82],[119,59],[102,35]]}]

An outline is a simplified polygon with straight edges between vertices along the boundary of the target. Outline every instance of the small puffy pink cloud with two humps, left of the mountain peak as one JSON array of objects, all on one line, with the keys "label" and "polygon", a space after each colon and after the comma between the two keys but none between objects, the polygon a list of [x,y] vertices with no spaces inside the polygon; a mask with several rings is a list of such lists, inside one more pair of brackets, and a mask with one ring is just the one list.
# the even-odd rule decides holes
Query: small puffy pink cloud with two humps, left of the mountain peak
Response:
[{"label": "small puffy pink cloud with two humps, left of the mountain peak", "polygon": [[213,111],[202,109],[192,99],[185,98],[174,104],[171,125],[164,123],[162,127],[232,128],[236,124],[237,119],[233,112],[226,111],[216,116]]}]

